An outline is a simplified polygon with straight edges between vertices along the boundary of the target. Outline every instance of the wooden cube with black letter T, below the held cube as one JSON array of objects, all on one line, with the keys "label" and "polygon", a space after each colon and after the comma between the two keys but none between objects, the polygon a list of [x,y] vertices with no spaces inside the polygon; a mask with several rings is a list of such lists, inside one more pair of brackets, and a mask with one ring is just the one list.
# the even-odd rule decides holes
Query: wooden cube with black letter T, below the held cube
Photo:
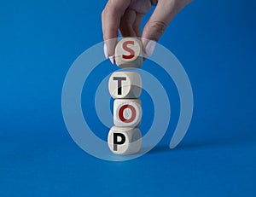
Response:
[{"label": "wooden cube with black letter T, below the held cube", "polygon": [[138,98],[142,93],[142,78],[137,72],[113,72],[108,80],[113,98]]}]

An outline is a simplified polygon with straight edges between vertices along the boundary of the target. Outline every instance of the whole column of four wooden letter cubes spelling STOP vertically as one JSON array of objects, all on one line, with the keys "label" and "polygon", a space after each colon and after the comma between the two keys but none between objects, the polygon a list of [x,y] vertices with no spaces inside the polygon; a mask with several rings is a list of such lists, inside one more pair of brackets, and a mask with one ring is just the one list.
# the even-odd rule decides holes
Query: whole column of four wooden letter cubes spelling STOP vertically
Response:
[{"label": "whole column of four wooden letter cubes spelling STOP vertically", "polygon": [[117,66],[124,68],[124,71],[113,72],[108,81],[108,90],[114,99],[114,126],[108,133],[108,147],[114,154],[137,154],[142,146],[142,133],[138,129],[142,119],[142,104],[139,99],[142,78],[136,72],[136,68],[143,64],[140,39],[119,40],[114,57]]}]

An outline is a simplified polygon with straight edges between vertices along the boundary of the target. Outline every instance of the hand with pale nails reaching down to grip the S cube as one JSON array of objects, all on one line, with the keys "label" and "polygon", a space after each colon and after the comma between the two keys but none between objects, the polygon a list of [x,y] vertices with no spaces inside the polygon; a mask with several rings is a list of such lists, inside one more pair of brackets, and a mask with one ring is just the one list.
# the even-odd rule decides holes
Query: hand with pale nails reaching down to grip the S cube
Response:
[{"label": "hand with pale nails reaching down to grip the S cube", "polygon": [[108,0],[102,11],[104,53],[114,63],[113,55],[118,30],[123,37],[140,37],[144,14],[156,5],[154,13],[143,28],[142,42],[146,55],[154,52],[155,43],[165,32],[173,17],[192,0]]}]

